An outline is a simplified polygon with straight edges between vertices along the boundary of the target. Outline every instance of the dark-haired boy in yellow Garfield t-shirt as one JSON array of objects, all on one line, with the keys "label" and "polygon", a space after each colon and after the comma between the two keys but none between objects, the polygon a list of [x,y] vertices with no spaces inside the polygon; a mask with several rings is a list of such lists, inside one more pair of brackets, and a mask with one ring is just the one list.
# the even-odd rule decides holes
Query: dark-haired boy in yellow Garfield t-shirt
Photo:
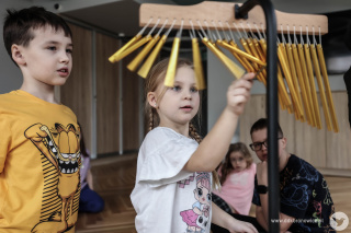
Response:
[{"label": "dark-haired boy in yellow Garfield t-shirt", "polygon": [[80,129],[54,97],[71,72],[71,37],[44,8],[8,10],[3,40],[23,83],[0,95],[0,232],[75,232]]}]

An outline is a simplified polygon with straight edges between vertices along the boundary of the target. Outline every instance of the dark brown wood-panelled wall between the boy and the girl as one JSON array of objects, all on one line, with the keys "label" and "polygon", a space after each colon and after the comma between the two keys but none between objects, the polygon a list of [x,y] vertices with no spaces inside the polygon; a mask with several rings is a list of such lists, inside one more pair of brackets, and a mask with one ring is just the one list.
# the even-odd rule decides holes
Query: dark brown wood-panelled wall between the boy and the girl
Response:
[{"label": "dark brown wood-panelled wall between the boy and the girl", "polygon": [[[65,86],[57,96],[77,115],[83,131],[86,143],[91,150],[91,141],[97,140],[98,158],[105,154],[118,154],[121,150],[120,132],[123,130],[123,151],[139,149],[139,106],[140,78],[126,69],[136,56],[129,55],[121,63],[111,63],[109,57],[117,50],[120,42],[111,36],[95,33],[95,89],[93,89],[93,33],[75,24],[69,24],[73,33],[73,69]],[[121,81],[123,86],[121,85]],[[122,88],[122,89],[121,89]],[[122,93],[120,93],[122,90]],[[92,100],[97,100],[97,119],[92,118]],[[123,101],[123,118],[120,108]],[[92,123],[97,120],[97,135],[92,136]],[[120,123],[122,120],[123,128]]]}]

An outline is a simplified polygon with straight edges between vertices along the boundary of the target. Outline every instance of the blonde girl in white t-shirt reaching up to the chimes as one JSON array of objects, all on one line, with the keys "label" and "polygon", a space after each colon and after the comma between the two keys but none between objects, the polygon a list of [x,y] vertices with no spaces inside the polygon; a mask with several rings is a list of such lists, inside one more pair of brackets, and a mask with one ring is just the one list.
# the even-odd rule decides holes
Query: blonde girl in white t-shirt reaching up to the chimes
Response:
[{"label": "blonde girl in white t-shirt reaching up to the chimes", "polygon": [[219,185],[213,171],[227,152],[254,74],[230,84],[227,106],[199,144],[201,137],[192,124],[200,106],[193,66],[179,59],[174,85],[166,88],[168,62],[166,59],[156,65],[145,83],[150,131],[139,149],[131,195],[137,232],[210,233],[211,222],[230,232],[257,232],[250,223],[234,219],[211,201],[213,179]]}]

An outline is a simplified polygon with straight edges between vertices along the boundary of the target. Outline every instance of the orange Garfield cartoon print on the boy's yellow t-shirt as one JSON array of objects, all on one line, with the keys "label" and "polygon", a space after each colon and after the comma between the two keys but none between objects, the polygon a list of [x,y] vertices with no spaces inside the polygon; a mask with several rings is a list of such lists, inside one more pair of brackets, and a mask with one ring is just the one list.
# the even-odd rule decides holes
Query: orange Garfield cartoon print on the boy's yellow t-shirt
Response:
[{"label": "orange Garfield cartoon print on the boy's yellow t-shirt", "polygon": [[80,177],[80,130],[69,124],[49,129],[35,124],[24,131],[42,153],[44,189],[39,222],[32,232],[66,232],[77,222]]}]

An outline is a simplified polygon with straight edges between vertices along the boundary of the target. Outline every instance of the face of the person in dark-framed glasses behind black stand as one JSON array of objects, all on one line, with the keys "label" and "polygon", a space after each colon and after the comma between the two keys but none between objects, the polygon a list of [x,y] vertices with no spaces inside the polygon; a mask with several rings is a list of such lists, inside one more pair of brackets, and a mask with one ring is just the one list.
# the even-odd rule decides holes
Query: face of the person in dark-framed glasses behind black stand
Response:
[{"label": "face of the person in dark-framed glasses behind black stand", "polygon": [[[267,141],[268,140],[267,128],[253,131],[251,135],[251,139],[252,139],[252,143]],[[283,150],[285,150],[285,147],[286,147],[286,138],[279,139],[278,145],[279,145],[278,153],[279,153],[279,156],[281,156]],[[261,161],[267,161],[268,152],[267,152],[267,147],[264,144],[261,145],[260,150],[257,150],[254,152]]]}]

